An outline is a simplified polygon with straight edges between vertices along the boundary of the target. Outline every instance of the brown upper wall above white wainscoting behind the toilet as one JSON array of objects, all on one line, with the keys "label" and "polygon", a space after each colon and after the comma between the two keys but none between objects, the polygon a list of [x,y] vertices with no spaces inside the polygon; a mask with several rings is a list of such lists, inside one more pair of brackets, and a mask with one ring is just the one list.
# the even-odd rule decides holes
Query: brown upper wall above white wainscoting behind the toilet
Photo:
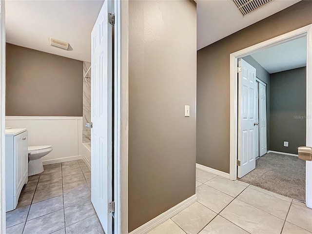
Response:
[{"label": "brown upper wall above white wainscoting behind the toilet", "polygon": [[6,116],[82,116],[82,62],[7,43],[5,101]]}]

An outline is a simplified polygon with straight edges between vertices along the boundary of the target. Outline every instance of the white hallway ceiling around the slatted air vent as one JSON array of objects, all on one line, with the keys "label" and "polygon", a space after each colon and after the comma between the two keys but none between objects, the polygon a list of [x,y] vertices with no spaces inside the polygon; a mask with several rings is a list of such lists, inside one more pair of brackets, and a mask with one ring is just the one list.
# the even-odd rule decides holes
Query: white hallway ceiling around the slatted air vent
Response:
[{"label": "white hallway ceiling around the slatted air vent", "polygon": [[197,50],[298,1],[300,0],[274,0],[243,17],[232,0],[197,0]]}]

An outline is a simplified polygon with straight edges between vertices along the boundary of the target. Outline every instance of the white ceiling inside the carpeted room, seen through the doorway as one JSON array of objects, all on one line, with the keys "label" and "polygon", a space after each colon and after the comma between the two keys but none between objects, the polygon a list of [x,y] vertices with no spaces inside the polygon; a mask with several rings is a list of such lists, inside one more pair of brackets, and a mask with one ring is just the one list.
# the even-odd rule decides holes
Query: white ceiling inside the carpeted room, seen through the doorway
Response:
[{"label": "white ceiling inside the carpeted room, seen through the doorway", "polygon": [[251,55],[270,74],[307,64],[307,37],[295,39]]}]

